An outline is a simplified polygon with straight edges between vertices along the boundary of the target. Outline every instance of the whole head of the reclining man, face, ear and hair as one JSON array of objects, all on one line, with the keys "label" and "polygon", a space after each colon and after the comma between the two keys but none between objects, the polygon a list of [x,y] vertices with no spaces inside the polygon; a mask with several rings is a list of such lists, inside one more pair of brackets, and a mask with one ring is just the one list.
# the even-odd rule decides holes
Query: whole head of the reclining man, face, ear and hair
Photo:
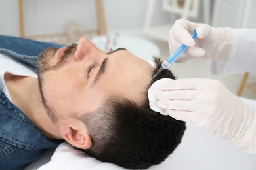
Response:
[{"label": "whole head of the reclining man, face, ear and hair", "polygon": [[[186,129],[184,122],[150,109],[150,85],[137,94],[156,69],[127,50],[107,54],[83,38],[77,48],[39,56],[39,87],[66,141],[98,160],[146,168],[165,160]],[[160,78],[174,76],[163,71],[154,80]]]}]

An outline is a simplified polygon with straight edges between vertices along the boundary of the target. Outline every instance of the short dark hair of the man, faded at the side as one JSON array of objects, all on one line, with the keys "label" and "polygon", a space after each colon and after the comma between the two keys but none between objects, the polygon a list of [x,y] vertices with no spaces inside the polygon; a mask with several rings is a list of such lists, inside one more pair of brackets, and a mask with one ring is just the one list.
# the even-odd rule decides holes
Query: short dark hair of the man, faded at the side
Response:
[{"label": "short dark hair of the man, faded at the side", "polygon": [[[154,61],[157,70],[161,61]],[[152,83],[161,78],[175,79],[171,71],[164,70]],[[147,95],[140,106],[121,96],[112,96],[96,112],[78,116],[93,142],[85,153],[129,169],[145,169],[164,161],[181,143],[186,125],[154,112],[148,103]]]}]

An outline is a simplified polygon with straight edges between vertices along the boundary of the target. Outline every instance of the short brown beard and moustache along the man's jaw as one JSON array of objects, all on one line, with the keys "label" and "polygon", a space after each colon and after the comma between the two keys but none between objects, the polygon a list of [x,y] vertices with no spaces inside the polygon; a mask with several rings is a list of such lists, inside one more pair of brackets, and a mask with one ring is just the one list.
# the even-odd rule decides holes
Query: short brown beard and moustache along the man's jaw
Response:
[{"label": "short brown beard and moustache along the man's jaw", "polygon": [[38,84],[41,93],[41,101],[43,103],[43,106],[45,107],[49,119],[54,123],[58,121],[58,114],[53,109],[53,107],[51,107],[51,105],[47,103],[47,100],[45,99],[43,90],[43,83],[45,78],[44,73],[47,71],[56,71],[63,67],[65,64],[68,63],[68,59],[74,56],[76,50],[77,44],[71,44],[70,46],[68,46],[61,54],[58,63],[54,66],[51,65],[50,61],[54,58],[56,52],[58,51],[58,48],[51,47],[45,49],[43,52],[39,54],[37,59]]}]

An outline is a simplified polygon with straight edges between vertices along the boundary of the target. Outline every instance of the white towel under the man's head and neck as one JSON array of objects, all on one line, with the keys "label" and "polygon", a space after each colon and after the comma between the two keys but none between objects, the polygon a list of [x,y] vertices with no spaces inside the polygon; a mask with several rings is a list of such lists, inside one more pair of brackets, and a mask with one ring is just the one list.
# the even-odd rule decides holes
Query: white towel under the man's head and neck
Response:
[{"label": "white towel under the man's head and neck", "polygon": [[62,143],[56,151],[54,152],[51,161],[41,166],[39,170],[49,170],[49,169],[62,169],[62,170],[70,170],[70,169],[106,169],[106,170],[124,170],[122,167],[114,165],[112,163],[103,163],[102,161],[98,161],[95,158],[92,158],[81,152],[80,150],[76,150],[68,143]]}]

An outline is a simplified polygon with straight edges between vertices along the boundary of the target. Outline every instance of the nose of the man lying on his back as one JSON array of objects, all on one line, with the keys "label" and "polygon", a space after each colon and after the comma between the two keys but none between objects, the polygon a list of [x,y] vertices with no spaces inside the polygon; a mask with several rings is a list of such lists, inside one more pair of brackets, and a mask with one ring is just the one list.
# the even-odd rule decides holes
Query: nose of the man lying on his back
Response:
[{"label": "nose of the man lying on his back", "polygon": [[77,50],[75,52],[75,60],[79,61],[85,58],[86,56],[97,56],[96,53],[98,52],[98,48],[89,41],[89,39],[83,37],[79,39]]}]

